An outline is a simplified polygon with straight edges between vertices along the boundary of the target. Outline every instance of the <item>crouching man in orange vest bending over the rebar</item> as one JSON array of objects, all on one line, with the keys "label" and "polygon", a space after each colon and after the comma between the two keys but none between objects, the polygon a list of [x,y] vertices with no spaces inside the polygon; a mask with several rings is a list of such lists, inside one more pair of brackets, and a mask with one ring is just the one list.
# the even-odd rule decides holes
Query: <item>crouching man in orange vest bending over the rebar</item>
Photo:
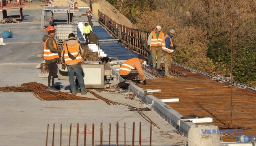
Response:
[{"label": "crouching man in orange vest bending over the rebar", "polygon": [[143,81],[143,85],[146,85],[147,82],[145,80],[144,73],[141,68],[141,63],[145,60],[144,55],[139,54],[136,58],[131,58],[126,60],[120,67],[119,75],[121,78],[125,79],[125,81],[119,82],[114,85],[114,87],[118,90],[119,88],[127,89],[128,86],[125,86],[125,83],[128,82],[130,84],[137,84],[135,77],[138,75],[141,77]]}]

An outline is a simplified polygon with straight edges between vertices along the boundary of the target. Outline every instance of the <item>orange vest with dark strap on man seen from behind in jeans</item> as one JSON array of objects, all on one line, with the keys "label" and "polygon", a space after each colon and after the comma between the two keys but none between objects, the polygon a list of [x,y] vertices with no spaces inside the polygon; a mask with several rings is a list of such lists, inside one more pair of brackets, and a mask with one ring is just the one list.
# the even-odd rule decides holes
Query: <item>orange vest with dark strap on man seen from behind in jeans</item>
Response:
[{"label": "orange vest with dark strap on man seen from behind in jeans", "polygon": [[[66,45],[67,43],[64,42],[64,60],[65,60],[65,64],[69,64],[69,63],[74,63],[74,62],[82,62],[82,57],[80,55],[80,53],[78,52],[78,41],[74,44],[74,45]],[[67,52],[67,47],[68,47],[68,51],[70,54],[72,54],[74,57],[76,57],[76,59],[71,59],[68,56],[68,52]]]}]

